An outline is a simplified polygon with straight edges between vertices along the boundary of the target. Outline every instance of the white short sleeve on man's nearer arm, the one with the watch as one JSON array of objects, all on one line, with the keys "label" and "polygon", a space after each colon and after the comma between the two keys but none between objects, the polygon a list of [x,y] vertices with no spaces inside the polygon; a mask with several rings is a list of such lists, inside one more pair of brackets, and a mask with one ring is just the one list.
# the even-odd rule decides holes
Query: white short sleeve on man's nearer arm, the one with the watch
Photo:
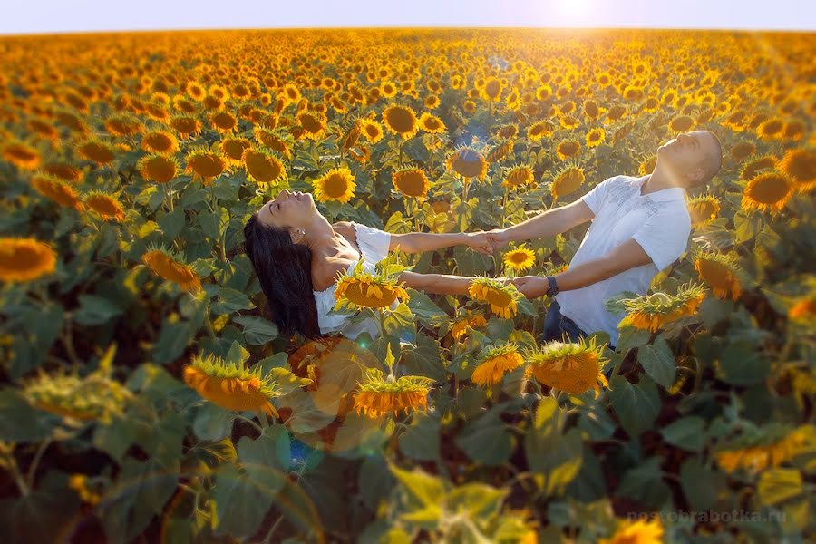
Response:
[{"label": "white short sleeve on man's nearer arm, the one with the watch", "polygon": [[646,251],[658,270],[680,258],[688,248],[691,218],[685,209],[669,209],[653,214],[632,238]]}]

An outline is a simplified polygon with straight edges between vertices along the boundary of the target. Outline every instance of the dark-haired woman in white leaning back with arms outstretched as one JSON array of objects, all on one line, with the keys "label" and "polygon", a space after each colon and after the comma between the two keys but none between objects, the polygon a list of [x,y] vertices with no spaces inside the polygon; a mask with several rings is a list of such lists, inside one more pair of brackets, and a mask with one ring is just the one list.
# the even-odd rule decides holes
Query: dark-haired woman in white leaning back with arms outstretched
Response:
[{"label": "dark-haired woman in white leaning back with arms outstretched", "polygon": [[[273,321],[284,334],[306,338],[336,331],[351,339],[364,331],[377,335],[372,319],[352,324],[348,316],[328,315],[335,306],[337,277],[351,273],[361,257],[364,269],[374,272],[374,265],[397,248],[422,253],[465,245],[492,253],[483,232],[391,234],[354,222],[332,225],[317,210],[311,194],[287,189],[252,214],[244,238]],[[400,281],[428,293],[459,295],[467,292],[470,278],[403,272]]]}]

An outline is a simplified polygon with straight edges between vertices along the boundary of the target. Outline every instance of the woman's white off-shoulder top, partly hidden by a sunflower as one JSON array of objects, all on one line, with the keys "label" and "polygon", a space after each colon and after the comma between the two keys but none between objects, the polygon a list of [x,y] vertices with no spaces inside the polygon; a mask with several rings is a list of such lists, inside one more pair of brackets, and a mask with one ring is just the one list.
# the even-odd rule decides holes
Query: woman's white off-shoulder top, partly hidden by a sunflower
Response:
[{"label": "woman's white off-shoulder top, partly hidden by a sunflower", "polygon": [[[391,245],[391,233],[379,230],[377,228],[367,227],[360,223],[352,221],[357,236],[357,247],[360,248],[360,256],[364,258],[363,269],[366,272],[374,273],[374,265],[388,256],[388,247]],[[352,263],[346,268],[346,271],[351,274],[355,269],[356,263]],[[379,328],[373,318],[366,318],[359,323],[351,323],[350,316],[329,316],[328,312],[335,307],[335,282],[330,287],[323,291],[312,291],[315,295],[315,304],[317,306],[317,325],[320,327],[320,334],[326,335],[329,333],[340,332],[346,338],[354,340],[357,335],[362,332],[367,332],[372,338],[376,338],[379,334]],[[394,301],[390,306],[392,309],[397,306]]]}]

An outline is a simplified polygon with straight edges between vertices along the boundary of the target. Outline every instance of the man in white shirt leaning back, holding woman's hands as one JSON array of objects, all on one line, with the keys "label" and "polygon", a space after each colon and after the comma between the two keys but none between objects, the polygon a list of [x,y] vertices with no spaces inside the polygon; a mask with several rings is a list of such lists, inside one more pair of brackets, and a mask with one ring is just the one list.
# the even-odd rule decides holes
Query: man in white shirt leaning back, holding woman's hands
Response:
[{"label": "man in white shirt leaning back, holding woman's hands", "polygon": [[606,331],[609,345],[617,345],[623,316],[608,312],[604,301],[622,291],[645,295],[656,274],[685,253],[691,232],[685,189],[714,178],[722,157],[714,132],[682,133],[657,148],[651,174],[613,176],[568,206],[487,233],[495,249],[592,221],[568,270],[513,280],[528,298],[555,296],[545,319],[545,341],[562,335],[577,341],[578,336]]}]

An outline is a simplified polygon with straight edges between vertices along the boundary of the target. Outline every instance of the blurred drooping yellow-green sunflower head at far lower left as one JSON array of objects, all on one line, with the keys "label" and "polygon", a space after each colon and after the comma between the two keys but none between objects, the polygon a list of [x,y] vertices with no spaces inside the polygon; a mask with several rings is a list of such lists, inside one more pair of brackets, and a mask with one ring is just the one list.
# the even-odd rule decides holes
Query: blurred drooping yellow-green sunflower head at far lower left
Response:
[{"label": "blurred drooping yellow-green sunflower head at far lower left", "polygon": [[74,369],[63,368],[55,374],[37,369],[37,376],[24,381],[23,394],[34,407],[80,421],[110,422],[112,415],[123,413],[133,398],[131,391],[113,380],[107,370],[80,377]]}]

